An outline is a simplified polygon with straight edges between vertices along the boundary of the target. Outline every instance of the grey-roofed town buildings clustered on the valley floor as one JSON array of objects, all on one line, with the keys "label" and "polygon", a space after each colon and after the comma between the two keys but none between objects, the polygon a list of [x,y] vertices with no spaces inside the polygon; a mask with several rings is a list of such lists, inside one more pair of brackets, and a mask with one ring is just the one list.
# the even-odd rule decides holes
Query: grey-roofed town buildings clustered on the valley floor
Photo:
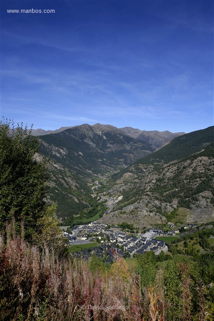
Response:
[{"label": "grey-roofed town buildings clustered on the valley floor", "polygon": [[[69,244],[83,244],[98,241],[100,246],[92,247],[75,252],[77,257],[90,257],[93,253],[101,258],[105,257],[106,262],[113,260],[115,250],[123,257],[133,257],[134,254],[143,254],[146,251],[153,251],[156,255],[160,251],[167,251],[164,241],[155,239],[157,235],[162,235],[162,230],[150,229],[144,234],[130,234],[121,231],[118,226],[107,226],[107,224],[99,224],[96,221],[87,225],[75,226],[72,234],[64,232],[68,238]],[[172,234],[168,234],[172,235]]]}]

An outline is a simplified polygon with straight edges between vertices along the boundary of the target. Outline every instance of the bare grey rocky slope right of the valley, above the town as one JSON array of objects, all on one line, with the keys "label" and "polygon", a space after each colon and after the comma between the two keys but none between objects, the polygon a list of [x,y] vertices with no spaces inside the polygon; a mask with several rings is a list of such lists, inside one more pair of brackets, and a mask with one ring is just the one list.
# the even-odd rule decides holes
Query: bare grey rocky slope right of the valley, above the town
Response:
[{"label": "bare grey rocky slope right of the valley, above the town", "polygon": [[[213,221],[213,177],[213,158],[205,156],[195,158],[194,155],[192,159],[172,161],[158,169],[146,166],[142,176],[136,174],[135,168],[133,173],[126,172],[118,178],[109,190],[111,195],[131,195],[127,202],[124,197],[116,205],[116,209],[120,206],[120,210],[111,213],[111,217],[116,215],[120,222],[118,215],[122,211],[126,213],[124,218],[129,223],[147,227],[148,224],[165,221],[165,213],[187,204],[192,209],[187,213],[188,222]],[[133,209],[137,213],[136,218],[131,215]],[[107,216],[103,219],[108,220]]]}]

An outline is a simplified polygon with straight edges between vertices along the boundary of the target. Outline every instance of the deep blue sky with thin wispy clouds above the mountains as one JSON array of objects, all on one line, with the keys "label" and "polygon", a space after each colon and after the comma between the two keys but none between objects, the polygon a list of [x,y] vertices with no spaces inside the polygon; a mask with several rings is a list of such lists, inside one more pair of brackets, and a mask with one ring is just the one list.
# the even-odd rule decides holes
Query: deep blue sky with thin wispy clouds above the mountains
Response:
[{"label": "deep blue sky with thin wispy clouds above the mountains", "polygon": [[213,126],[213,1],[1,1],[0,50],[15,123]]}]

